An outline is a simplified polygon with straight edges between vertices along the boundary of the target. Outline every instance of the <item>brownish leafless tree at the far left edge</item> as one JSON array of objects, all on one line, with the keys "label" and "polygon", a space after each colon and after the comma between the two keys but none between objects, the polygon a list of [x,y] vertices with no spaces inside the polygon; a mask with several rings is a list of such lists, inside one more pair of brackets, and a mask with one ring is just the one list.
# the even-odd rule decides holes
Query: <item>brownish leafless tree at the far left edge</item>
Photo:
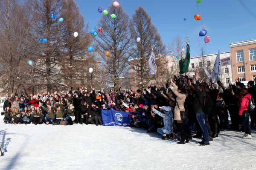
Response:
[{"label": "brownish leafless tree at the far left edge", "polygon": [[19,0],[0,1],[0,64],[4,92],[26,89],[29,44],[30,3]]}]

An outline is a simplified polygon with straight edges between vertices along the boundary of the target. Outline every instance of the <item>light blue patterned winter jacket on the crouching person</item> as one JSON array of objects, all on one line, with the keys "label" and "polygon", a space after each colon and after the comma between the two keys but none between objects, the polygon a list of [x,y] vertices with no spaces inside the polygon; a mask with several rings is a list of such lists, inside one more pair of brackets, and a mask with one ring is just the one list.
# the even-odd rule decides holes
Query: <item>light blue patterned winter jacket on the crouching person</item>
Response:
[{"label": "light blue patterned winter jacket on the crouching person", "polygon": [[156,109],[153,109],[153,112],[156,113],[157,115],[160,115],[163,118],[163,125],[164,127],[162,128],[163,133],[170,135],[172,133],[172,124],[173,124],[173,113],[172,111],[166,112],[165,114],[159,112]]}]

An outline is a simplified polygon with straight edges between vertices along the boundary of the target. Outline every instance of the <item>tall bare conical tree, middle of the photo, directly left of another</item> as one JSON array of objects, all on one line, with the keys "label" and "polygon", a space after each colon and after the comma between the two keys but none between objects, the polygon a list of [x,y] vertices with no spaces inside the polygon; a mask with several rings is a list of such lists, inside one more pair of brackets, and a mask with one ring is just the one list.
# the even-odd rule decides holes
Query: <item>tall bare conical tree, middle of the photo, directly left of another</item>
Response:
[{"label": "tall bare conical tree, middle of the photo, directly left of another", "polygon": [[[122,6],[108,7],[109,14],[115,14],[112,19],[109,15],[103,15],[98,26],[103,29],[96,39],[97,50],[106,63],[107,74],[103,71],[105,81],[116,88],[120,84],[119,78],[128,72],[128,59],[131,56],[131,34],[129,30],[129,16],[123,11]],[[105,57],[105,52],[111,55]]]}]

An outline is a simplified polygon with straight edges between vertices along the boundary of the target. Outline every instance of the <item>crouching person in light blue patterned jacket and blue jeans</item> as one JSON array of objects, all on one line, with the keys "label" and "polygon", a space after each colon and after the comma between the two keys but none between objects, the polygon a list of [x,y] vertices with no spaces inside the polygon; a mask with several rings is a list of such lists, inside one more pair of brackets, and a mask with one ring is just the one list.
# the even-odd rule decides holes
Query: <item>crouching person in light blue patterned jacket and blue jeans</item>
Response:
[{"label": "crouching person in light blue patterned jacket and blue jeans", "polygon": [[154,105],[151,105],[152,111],[163,118],[164,127],[158,128],[157,132],[163,135],[162,136],[163,140],[167,138],[174,138],[174,135],[172,133],[173,113],[172,113],[171,107],[163,106],[159,108],[162,109],[165,114],[157,111],[156,109],[154,109]]}]

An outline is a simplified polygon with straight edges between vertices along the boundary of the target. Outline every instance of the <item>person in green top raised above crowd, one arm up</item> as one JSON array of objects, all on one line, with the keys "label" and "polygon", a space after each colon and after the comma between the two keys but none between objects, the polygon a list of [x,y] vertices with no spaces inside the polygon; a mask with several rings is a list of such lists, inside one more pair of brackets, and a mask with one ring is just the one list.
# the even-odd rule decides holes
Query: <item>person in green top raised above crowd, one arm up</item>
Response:
[{"label": "person in green top raised above crowd, one arm up", "polygon": [[189,62],[190,62],[190,53],[189,53],[189,42],[187,44],[187,52],[185,55],[185,52],[181,52],[181,59],[179,61],[179,66],[180,66],[180,75],[185,76],[186,72],[189,72]]}]

